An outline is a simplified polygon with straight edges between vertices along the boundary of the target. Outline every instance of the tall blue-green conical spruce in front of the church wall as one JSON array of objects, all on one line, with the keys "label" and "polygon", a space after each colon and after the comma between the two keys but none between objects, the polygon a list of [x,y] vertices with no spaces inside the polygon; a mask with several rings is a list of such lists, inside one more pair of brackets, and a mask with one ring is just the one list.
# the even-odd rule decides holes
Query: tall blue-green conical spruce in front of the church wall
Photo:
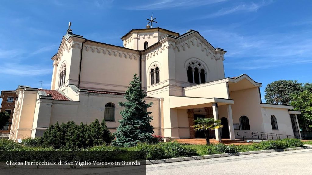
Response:
[{"label": "tall blue-green conical spruce in front of the church wall", "polygon": [[137,74],[134,74],[133,81],[124,96],[126,102],[119,102],[119,106],[124,107],[120,111],[122,120],[115,133],[116,140],[113,144],[119,147],[131,147],[137,143],[151,143],[153,140],[153,127],[150,125],[153,117],[149,116],[152,112],[146,109],[153,103],[146,104],[144,100],[146,94],[141,89],[141,81]]}]

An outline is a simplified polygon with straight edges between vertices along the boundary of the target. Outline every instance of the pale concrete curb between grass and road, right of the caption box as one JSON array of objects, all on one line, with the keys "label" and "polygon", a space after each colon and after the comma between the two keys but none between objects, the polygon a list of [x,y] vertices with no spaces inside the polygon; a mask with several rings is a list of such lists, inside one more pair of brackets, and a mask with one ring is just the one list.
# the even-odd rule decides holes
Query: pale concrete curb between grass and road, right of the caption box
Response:
[{"label": "pale concrete curb between grass and road, right of the caption box", "polygon": [[269,149],[269,150],[260,150],[260,151],[247,151],[247,152],[240,152],[240,153],[212,154],[212,155],[193,156],[193,157],[180,157],[180,158],[147,160],[146,164],[152,165],[152,164],[159,164],[159,163],[182,162],[182,161],[189,161],[189,160],[201,160],[201,159],[207,159],[207,158],[231,157],[231,156],[248,155],[248,154],[273,153],[273,152],[293,151],[293,150],[300,150],[300,149],[312,149],[312,146],[306,146],[303,148],[298,147],[298,148],[286,148],[286,149]]}]

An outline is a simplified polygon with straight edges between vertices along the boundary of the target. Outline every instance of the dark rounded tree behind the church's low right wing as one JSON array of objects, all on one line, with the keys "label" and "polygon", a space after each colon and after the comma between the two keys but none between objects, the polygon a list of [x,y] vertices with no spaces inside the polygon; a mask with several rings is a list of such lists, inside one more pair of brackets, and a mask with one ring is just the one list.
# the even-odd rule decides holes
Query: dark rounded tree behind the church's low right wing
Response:
[{"label": "dark rounded tree behind the church's low right wing", "polygon": [[266,86],[265,99],[267,103],[289,104],[291,94],[302,91],[302,83],[298,83],[297,80],[278,80]]}]

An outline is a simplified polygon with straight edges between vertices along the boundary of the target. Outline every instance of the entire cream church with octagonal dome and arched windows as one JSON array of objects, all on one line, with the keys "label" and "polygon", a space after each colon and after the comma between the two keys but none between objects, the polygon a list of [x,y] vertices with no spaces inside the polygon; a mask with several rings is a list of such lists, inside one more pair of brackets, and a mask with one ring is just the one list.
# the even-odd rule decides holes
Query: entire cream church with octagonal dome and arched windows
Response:
[{"label": "entire cream church with octagonal dome and arched windows", "polygon": [[69,29],[52,57],[51,90],[17,89],[10,139],[42,136],[56,121],[90,123],[96,118],[104,118],[115,132],[122,118],[118,102],[125,101],[135,73],[145,100],[154,103],[148,110],[157,135],[202,138],[192,129],[193,120],[214,117],[224,125],[212,133],[216,140],[253,131],[301,138],[300,112],[262,103],[261,83],[246,74],[226,78],[227,52],[214,48],[198,31],[180,35],[159,27],[135,29],[121,39],[124,47],[87,40]]}]

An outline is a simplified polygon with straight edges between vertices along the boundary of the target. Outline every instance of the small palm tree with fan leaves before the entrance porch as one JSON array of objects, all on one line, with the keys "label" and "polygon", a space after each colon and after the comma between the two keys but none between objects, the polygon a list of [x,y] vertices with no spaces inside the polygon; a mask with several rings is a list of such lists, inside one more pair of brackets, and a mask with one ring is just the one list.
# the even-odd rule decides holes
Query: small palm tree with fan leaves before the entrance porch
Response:
[{"label": "small palm tree with fan leaves before the entrance porch", "polygon": [[218,128],[222,128],[223,125],[221,125],[221,120],[214,120],[214,118],[209,117],[209,118],[197,118],[194,120],[196,123],[194,126],[194,131],[201,131],[203,130],[205,132],[205,138],[206,138],[206,143],[209,144],[209,131],[210,130],[215,130]]}]

